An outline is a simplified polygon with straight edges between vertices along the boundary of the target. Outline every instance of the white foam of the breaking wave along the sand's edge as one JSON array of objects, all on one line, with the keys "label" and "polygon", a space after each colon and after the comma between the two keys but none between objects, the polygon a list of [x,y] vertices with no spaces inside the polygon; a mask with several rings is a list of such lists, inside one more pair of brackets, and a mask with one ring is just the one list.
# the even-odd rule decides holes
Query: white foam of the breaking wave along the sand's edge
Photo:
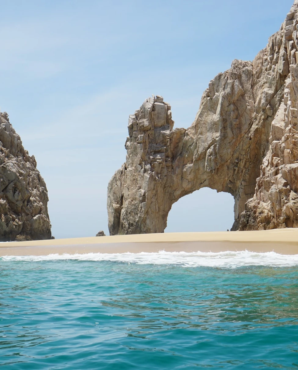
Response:
[{"label": "white foam of the breaking wave along the sand's edge", "polygon": [[298,255],[281,255],[275,252],[165,252],[158,253],[86,253],[86,254],[50,254],[47,256],[3,256],[1,261],[112,261],[137,264],[179,265],[184,267],[220,267],[237,268],[241,266],[298,266]]}]

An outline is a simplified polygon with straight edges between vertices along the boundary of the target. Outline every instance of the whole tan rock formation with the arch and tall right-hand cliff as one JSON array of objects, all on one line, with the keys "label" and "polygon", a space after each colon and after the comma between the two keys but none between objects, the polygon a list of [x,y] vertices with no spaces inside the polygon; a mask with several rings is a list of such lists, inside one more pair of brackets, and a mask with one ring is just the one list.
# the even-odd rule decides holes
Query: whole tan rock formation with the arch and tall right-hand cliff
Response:
[{"label": "whole tan rock formation with the arch and tall right-hand cliff", "polygon": [[234,196],[232,230],[298,226],[297,8],[253,62],[210,82],[188,129],[173,129],[158,96],[130,116],[108,185],[111,235],[163,232],[173,203],[205,186]]}]

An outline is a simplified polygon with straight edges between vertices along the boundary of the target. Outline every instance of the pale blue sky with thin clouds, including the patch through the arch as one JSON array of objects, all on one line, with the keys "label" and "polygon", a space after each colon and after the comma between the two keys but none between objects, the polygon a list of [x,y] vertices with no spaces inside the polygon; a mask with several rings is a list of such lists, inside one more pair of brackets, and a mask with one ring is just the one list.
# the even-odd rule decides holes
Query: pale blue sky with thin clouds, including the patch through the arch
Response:
[{"label": "pale blue sky with thin clouds, including the patch through the arch", "polygon": [[[46,181],[53,235],[107,233],[128,115],[158,94],[189,127],[209,81],[252,60],[292,3],[1,1],[0,107]],[[166,231],[226,230],[233,206],[201,189],[173,205]]]}]

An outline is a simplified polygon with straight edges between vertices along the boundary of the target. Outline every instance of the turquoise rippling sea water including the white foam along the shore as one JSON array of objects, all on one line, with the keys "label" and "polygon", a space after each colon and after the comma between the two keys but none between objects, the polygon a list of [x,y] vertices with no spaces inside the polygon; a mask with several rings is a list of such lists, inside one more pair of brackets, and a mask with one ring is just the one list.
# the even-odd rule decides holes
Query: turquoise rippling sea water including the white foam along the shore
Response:
[{"label": "turquoise rippling sea water including the white foam along the shore", "polygon": [[0,258],[0,369],[298,369],[298,255]]}]

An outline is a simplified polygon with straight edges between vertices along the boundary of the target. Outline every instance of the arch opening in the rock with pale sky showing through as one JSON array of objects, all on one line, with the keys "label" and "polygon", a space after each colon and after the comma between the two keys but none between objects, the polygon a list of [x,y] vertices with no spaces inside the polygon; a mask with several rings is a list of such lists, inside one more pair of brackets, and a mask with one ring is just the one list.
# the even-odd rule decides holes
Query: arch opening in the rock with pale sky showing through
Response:
[{"label": "arch opening in the rock with pale sky showing through", "polygon": [[233,222],[233,196],[202,188],[172,205],[164,232],[227,231]]}]

